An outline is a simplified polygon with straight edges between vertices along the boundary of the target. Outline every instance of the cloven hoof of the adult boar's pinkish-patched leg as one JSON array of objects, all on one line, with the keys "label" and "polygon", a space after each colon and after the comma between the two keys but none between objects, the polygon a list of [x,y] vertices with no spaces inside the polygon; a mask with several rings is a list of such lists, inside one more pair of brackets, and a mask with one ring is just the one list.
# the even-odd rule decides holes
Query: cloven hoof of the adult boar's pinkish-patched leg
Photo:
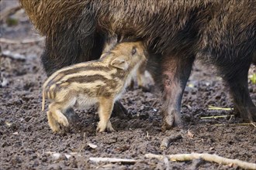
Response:
[{"label": "cloven hoof of the adult boar's pinkish-patched leg", "polygon": [[178,110],[171,110],[169,113],[163,112],[163,125],[161,127],[162,131],[170,130],[176,126],[182,127],[181,117],[179,115]]}]

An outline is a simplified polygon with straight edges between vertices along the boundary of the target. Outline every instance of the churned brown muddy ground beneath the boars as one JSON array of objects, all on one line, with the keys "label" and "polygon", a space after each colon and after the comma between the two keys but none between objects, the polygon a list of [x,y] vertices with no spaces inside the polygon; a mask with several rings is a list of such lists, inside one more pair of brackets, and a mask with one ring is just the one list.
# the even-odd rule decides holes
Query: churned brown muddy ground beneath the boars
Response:
[{"label": "churned brown muddy ground beneath the boars", "polygon": [[[1,12],[16,1],[0,2]],[[5,39],[37,39],[33,26],[22,10],[11,15],[18,22],[1,22]],[[14,24],[13,24],[14,23]],[[14,25],[14,26],[10,26]],[[79,124],[54,134],[41,111],[42,83],[47,76],[40,63],[43,41],[10,44],[1,42],[2,52],[9,50],[24,58],[1,55],[0,86],[0,169],[237,169],[235,165],[189,161],[168,162],[145,158],[147,153],[171,155],[212,153],[256,163],[256,128],[239,117],[201,119],[213,115],[231,115],[232,110],[209,110],[209,106],[232,108],[228,90],[211,66],[195,63],[182,100],[183,128],[161,131],[161,101],[157,93],[143,92],[137,87],[127,90],[121,102],[130,118],[112,117],[114,133],[95,134],[99,121],[95,108],[76,110]],[[256,69],[251,66],[250,74]],[[256,104],[256,86],[249,81],[251,97]],[[48,104],[48,103],[47,103]],[[216,124],[223,124],[217,126]],[[190,133],[188,133],[188,131]],[[161,150],[164,138],[182,134]],[[88,144],[96,145],[96,148]],[[53,153],[61,153],[60,158]],[[64,154],[71,155],[67,158]],[[136,163],[95,163],[90,157],[133,158]]]}]

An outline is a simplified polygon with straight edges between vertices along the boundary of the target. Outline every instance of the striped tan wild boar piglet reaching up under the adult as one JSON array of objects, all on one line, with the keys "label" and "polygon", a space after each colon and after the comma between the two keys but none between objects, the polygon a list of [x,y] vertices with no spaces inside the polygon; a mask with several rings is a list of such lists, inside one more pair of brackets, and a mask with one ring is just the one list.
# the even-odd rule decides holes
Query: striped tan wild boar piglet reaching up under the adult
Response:
[{"label": "striped tan wild boar piglet reaching up under the adult", "polygon": [[57,70],[43,84],[42,110],[45,98],[51,100],[47,111],[50,128],[56,132],[60,131],[60,124],[68,126],[63,113],[71,107],[99,104],[97,131],[115,131],[109,121],[113,104],[145,60],[142,42],[121,42],[98,60]]}]

